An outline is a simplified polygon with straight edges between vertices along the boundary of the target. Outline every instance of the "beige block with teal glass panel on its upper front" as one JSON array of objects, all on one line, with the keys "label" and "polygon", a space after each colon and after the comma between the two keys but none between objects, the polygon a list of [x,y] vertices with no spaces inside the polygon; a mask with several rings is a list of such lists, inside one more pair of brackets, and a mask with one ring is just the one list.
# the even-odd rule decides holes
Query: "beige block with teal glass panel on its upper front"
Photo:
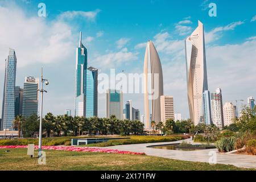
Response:
[{"label": "beige block with teal glass panel on its upper front", "polygon": [[115,115],[123,119],[123,93],[120,90],[106,90],[106,118]]}]

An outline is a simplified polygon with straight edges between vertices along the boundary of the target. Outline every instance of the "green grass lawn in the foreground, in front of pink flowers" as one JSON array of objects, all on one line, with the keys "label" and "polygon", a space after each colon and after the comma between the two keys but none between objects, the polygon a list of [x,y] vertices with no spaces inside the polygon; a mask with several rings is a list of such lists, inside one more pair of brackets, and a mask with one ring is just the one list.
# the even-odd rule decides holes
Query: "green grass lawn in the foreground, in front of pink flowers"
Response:
[{"label": "green grass lawn in the foreground, in front of pink flowers", "polygon": [[[0,150],[0,170],[247,170],[223,164],[184,162],[147,155],[46,150],[46,165],[27,156],[26,148]],[[36,153],[36,152],[35,152]]]}]

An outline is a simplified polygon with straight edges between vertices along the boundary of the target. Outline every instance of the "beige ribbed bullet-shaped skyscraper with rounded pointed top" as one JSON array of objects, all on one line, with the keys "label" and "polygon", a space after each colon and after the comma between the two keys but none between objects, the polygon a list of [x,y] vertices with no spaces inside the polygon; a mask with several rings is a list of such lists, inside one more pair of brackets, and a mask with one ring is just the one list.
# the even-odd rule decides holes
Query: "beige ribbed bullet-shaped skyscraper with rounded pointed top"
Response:
[{"label": "beige ribbed bullet-shaped skyscraper with rounded pointed top", "polygon": [[158,52],[148,40],[144,56],[144,113],[145,128],[150,129],[151,121],[161,121],[160,97],[163,96],[163,71]]}]

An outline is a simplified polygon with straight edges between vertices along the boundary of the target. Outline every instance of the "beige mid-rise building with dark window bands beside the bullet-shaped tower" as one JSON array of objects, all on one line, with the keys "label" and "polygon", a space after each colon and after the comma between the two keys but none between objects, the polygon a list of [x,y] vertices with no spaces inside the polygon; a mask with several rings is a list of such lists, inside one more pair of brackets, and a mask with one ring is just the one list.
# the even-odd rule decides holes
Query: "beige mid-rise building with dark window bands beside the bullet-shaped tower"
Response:
[{"label": "beige mid-rise building with dark window bands beside the bullet-shaped tower", "polygon": [[161,121],[165,123],[168,119],[174,118],[174,97],[161,96]]}]

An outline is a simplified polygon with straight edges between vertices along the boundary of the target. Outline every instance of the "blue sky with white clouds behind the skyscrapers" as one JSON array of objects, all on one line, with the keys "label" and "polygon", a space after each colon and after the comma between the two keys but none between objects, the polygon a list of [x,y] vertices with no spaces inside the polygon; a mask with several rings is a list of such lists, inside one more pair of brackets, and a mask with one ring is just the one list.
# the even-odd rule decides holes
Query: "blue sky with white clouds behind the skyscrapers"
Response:
[{"label": "blue sky with white clouds behind the skyscrapers", "polygon": [[[38,3],[47,17],[39,17]],[[217,5],[217,17],[208,5]],[[39,76],[51,81],[44,112],[73,111],[75,49],[79,31],[88,48],[88,65],[108,73],[141,73],[145,45],[152,40],[163,67],[164,94],[174,96],[175,112],[188,117],[184,39],[205,26],[209,89],[222,88],[224,102],[256,97],[255,1],[0,1],[0,100],[5,58],[14,48],[18,59],[16,85]],[[256,19],[256,17],[255,17]],[[143,114],[140,94],[127,94]],[[246,102],[244,102],[245,104]],[[0,106],[1,109],[2,106]],[[105,115],[105,96],[99,95],[98,115]]]}]

